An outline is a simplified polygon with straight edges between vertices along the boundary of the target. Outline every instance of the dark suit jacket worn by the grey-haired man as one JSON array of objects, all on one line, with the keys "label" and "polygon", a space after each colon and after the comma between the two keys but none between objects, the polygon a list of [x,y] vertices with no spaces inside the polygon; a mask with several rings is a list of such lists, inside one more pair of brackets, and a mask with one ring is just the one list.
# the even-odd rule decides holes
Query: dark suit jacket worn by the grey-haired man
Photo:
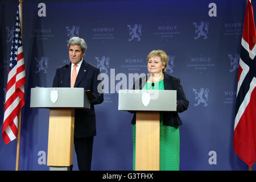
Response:
[{"label": "dark suit jacket worn by the grey-haired man", "polygon": [[[95,100],[90,101],[90,109],[75,109],[75,131],[76,138],[92,137],[96,135],[96,117],[94,105],[103,102],[103,93],[98,93],[97,86],[101,80],[97,80],[100,69],[92,64],[82,61],[79,73],[77,74],[75,88],[84,88],[90,90]],[[64,65],[56,70],[53,79],[53,87],[70,87],[71,82],[71,63]]]}]

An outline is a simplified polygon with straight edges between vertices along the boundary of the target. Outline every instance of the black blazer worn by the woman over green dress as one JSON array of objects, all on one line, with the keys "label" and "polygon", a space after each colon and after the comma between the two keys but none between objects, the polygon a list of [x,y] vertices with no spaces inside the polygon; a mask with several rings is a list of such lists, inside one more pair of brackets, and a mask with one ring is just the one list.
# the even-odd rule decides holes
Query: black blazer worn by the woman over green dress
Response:
[{"label": "black blazer worn by the woman over green dress", "polygon": [[[133,89],[141,90],[146,84],[147,76],[139,78],[135,81]],[[137,87],[137,86],[139,87]],[[182,113],[184,110],[188,109],[189,102],[185,96],[184,90],[180,85],[180,78],[168,75],[164,73],[164,90],[177,90],[177,111],[163,111],[163,125],[177,127],[182,125],[182,121],[178,113]],[[134,125],[136,122],[136,113],[133,115],[131,123]]]}]

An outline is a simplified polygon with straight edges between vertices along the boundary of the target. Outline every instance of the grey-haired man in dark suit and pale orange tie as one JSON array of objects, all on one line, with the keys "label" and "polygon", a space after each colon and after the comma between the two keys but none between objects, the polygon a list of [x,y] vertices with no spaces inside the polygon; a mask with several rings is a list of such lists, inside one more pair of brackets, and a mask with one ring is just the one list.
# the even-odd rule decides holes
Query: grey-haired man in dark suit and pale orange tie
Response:
[{"label": "grey-haired man in dark suit and pale orange tie", "polygon": [[[75,87],[90,90],[95,99],[90,100],[90,109],[75,109],[74,144],[79,170],[90,170],[93,137],[96,135],[95,104],[103,102],[103,92],[98,80],[100,69],[87,63],[83,56],[87,49],[84,39],[74,37],[68,42],[71,63],[56,70],[53,87]],[[98,90],[101,89],[101,90]]]}]

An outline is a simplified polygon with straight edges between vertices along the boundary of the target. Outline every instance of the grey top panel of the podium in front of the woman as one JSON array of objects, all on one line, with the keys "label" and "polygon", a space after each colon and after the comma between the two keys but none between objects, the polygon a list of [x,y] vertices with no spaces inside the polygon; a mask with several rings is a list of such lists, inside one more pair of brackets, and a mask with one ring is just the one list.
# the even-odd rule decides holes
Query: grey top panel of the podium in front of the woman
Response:
[{"label": "grey top panel of the podium in front of the woman", "polygon": [[176,111],[176,90],[119,90],[118,110]]}]

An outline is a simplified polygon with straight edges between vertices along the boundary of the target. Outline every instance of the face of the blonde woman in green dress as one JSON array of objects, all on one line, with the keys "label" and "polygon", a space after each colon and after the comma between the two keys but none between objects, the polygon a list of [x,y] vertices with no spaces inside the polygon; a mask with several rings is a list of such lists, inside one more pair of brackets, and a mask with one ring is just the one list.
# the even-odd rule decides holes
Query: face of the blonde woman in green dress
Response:
[{"label": "face of the blonde woman in green dress", "polygon": [[147,70],[149,73],[162,74],[164,65],[159,56],[150,57],[147,62]]}]

